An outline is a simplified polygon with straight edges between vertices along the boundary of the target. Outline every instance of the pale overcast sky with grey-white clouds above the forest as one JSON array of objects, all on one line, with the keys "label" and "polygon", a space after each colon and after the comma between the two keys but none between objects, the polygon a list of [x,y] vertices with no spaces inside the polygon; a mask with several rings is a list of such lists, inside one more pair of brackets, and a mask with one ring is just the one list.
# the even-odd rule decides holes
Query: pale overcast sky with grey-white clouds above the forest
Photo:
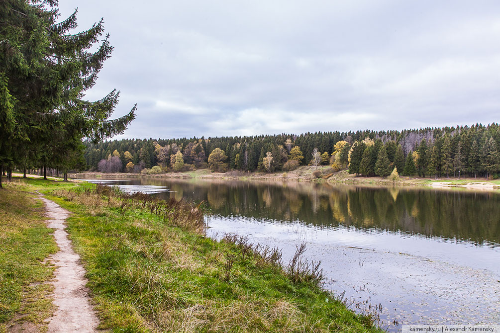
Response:
[{"label": "pale overcast sky with grey-white clouds above the forest", "polygon": [[60,0],[104,18],[115,138],[389,130],[498,122],[500,1]]}]

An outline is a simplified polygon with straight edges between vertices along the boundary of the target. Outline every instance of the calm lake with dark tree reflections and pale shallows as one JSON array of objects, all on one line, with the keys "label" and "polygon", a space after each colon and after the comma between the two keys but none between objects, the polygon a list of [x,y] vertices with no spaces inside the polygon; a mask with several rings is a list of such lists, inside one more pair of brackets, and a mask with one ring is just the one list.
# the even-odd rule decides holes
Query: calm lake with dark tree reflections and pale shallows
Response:
[{"label": "calm lake with dark tree reflections and pale shallows", "polygon": [[96,180],[205,201],[208,236],[248,236],[284,262],[306,243],[325,288],[380,326],[500,323],[500,194],[304,182]]}]

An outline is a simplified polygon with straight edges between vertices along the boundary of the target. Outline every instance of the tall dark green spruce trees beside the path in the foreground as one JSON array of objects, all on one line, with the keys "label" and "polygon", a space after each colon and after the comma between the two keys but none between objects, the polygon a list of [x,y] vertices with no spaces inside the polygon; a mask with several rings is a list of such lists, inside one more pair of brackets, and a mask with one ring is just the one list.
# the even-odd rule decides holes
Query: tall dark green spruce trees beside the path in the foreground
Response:
[{"label": "tall dark green spruce trees beside the path in the foreground", "polygon": [[[109,120],[119,92],[88,101],[113,47],[102,19],[77,28],[77,10],[59,19],[56,0],[0,1],[0,173],[85,165],[82,140],[123,133],[135,106]],[[1,177],[0,177],[1,187]]]}]

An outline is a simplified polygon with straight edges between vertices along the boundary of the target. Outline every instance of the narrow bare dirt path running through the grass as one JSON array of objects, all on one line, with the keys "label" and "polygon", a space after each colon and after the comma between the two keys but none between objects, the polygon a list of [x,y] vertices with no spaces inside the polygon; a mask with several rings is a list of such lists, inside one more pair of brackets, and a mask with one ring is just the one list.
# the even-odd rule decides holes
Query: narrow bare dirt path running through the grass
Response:
[{"label": "narrow bare dirt path running through the grass", "polygon": [[59,252],[49,257],[57,267],[52,282],[52,297],[57,310],[50,318],[48,333],[96,332],[99,321],[90,305],[88,289],[85,288],[85,270],[79,264],[80,257],[74,253],[68,234],[64,231],[64,220],[69,212],[41,195],[39,198],[45,203],[45,216],[49,218],[47,226],[55,229],[55,242],[59,247]]}]

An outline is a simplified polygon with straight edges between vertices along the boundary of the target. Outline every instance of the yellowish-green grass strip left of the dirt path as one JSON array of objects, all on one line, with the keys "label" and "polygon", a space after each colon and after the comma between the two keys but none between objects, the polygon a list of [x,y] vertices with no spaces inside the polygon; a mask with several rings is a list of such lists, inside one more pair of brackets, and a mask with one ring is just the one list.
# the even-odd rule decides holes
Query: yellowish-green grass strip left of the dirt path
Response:
[{"label": "yellowish-green grass strip left of the dirt path", "polygon": [[42,261],[57,251],[45,226],[42,203],[27,193],[24,183],[3,184],[0,189],[0,332],[19,322],[41,324],[52,313],[40,284],[53,267]]}]

